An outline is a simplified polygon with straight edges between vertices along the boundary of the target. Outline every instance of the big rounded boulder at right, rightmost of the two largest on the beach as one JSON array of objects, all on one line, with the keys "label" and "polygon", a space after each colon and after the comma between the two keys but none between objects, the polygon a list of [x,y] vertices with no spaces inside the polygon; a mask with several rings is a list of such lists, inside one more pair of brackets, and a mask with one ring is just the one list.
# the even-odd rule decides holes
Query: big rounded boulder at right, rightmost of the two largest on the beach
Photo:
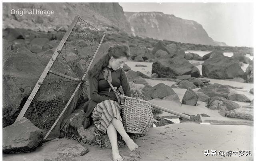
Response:
[{"label": "big rounded boulder at right, rightmost of the two largest on the beach", "polygon": [[235,77],[247,79],[238,60],[218,53],[211,54],[210,58],[204,61],[202,74],[204,77],[212,79],[233,79]]}]

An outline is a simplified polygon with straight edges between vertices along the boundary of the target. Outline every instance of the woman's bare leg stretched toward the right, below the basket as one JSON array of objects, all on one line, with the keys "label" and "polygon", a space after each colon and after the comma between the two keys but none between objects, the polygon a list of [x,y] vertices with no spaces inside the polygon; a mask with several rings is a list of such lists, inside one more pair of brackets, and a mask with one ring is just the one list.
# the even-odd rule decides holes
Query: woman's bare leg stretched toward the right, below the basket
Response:
[{"label": "woman's bare leg stretched toward the right, below the basket", "polygon": [[114,126],[114,128],[116,128],[116,130],[118,131],[118,133],[123,137],[126,145],[128,146],[128,148],[130,149],[130,151],[133,151],[135,149],[138,148],[138,145],[136,143],[134,143],[134,141],[129,137],[129,135],[125,132],[124,130],[124,126],[122,124],[122,122],[120,120],[117,120],[116,118],[113,118],[111,120],[112,125]]}]

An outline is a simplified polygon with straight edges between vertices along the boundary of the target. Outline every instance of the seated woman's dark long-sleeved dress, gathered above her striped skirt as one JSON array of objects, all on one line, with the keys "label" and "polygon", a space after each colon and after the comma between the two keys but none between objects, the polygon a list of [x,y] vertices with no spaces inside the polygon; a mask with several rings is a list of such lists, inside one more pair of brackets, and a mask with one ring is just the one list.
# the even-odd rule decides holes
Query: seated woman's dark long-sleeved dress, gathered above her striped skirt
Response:
[{"label": "seated woman's dark long-sleeved dress, gathered above her striped skirt", "polygon": [[[114,71],[112,68],[108,67],[107,69],[111,71],[112,85],[114,87],[116,86],[117,88],[119,88],[121,85],[124,90],[124,94],[130,97],[130,85],[124,70],[118,69]],[[87,118],[91,117],[92,111],[98,103],[104,100],[117,101],[116,95],[114,94],[112,89],[110,90],[110,85],[104,79],[104,75],[102,72],[100,72],[95,77],[90,78],[90,97],[91,100],[89,101],[89,105],[84,109]]]}]

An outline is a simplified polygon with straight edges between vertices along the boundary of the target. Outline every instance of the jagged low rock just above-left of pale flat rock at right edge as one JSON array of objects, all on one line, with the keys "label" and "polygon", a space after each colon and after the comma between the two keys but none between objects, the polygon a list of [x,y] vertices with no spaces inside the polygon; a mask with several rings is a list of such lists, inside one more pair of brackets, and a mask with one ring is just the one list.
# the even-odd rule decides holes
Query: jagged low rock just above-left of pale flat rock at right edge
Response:
[{"label": "jagged low rock just above-left of pale flat rock at right edge", "polygon": [[209,98],[206,103],[207,108],[212,110],[220,110],[220,115],[224,117],[226,115],[226,111],[234,110],[240,107],[237,103],[218,96]]}]

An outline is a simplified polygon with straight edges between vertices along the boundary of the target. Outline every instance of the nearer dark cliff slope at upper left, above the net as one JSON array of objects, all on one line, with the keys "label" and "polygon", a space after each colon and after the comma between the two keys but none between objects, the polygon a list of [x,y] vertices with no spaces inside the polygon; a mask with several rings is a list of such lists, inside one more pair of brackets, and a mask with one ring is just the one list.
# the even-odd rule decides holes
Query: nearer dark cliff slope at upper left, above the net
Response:
[{"label": "nearer dark cliff slope at upper left, above the net", "polygon": [[[11,14],[11,10],[34,14]],[[38,15],[36,10],[50,10],[54,14]],[[21,13],[21,12],[20,12]],[[118,3],[3,3],[3,28],[25,28],[34,31],[68,29],[75,16],[94,27],[112,27],[130,33],[130,24]]]}]

